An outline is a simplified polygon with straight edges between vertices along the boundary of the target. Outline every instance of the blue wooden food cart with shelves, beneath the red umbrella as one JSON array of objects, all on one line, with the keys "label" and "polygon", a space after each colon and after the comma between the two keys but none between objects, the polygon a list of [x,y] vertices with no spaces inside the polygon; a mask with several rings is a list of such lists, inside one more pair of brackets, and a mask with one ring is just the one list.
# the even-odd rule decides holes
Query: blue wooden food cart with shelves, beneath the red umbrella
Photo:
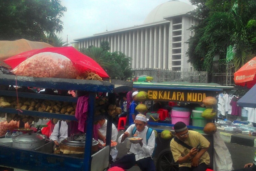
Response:
[{"label": "blue wooden food cart with shelves, beneath the red umbrella", "polygon": [[[114,101],[114,93],[118,91],[129,91],[132,84],[129,86],[122,87],[106,81],[95,81],[95,80],[77,80],[77,79],[60,79],[60,78],[35,78],[35,77],[24,77],[14,75],[0,75],[0,82],[4,85],[18,85],[18,86],[32,86],[32,87],[43,87],[43,88],[54,88],[54,89],[73,89],[89,92],[89,109],[87,117],[87,130],[85,140],[85,153],[84,158],[72,157],[60,154],[53,154],[47,152],[47,150],[26,150],[18,149],[14,147],[7,147],[0,145],[0,166],[4,167],[5,170],[104,170],[109,166],[109,153],[110,153],[110,142],[111,142],[111,127],[112,117],[107,113],[101,113],[100,115],[94,116],[94,111],[101,108],[94,106],[94,100],[96,92],[106,92],[109,94],[109,103]],[[0,90],[0,95],[13,96],[13,97],[28,97],[33,99],[50,99],[57,101],[68,101],[76,102],[76,97],[65,97],[46,95],[38,93],[24,93],[15,91]],[[106,107],[106,105],[104,106]],[[30,115],[38,117],[49,117],[49,118],[61,118],[65,120],[76,120],[74,115],[58,114],[58,113],[47,113],[29,110],[16,110],[13,108],[0,107],[0,112],[3,113],[15,113],[20,115]],[[92,132],[93,122],[103,117],[107,117],[107,136],[106,146],[99,150],[97,153],[91,155],[92,147]],[[101,160],[103,159],[103,160]],[[101,162],[99,162],[101,161]],[[12,168],[12,169],[11,169]]]}]

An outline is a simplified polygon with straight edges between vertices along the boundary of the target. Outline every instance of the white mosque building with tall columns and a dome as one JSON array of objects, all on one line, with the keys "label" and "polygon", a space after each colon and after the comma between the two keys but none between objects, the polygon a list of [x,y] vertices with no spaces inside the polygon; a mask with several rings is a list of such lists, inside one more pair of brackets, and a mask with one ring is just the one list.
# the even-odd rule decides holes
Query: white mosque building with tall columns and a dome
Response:
[{"label": "white mosque building with tall columns and a dome", "polygon": [[159,68],[173,71],[191,69],[186,51],[193,36],[189,28],[197,20],[188,15],[195,8],[176,0],[158,5],[146,17],[142,25],[77,38],[78,48],[100,46],[108,41],[110,52],[121,51],[132,58],[131,68]]}]

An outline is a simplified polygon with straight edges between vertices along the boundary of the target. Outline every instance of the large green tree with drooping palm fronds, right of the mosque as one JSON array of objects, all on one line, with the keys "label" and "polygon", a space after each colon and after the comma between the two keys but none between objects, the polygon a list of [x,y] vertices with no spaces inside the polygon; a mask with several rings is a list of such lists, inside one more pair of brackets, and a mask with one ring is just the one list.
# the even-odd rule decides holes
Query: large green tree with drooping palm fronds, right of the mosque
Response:
[{"label": "large green tree with drooping palm fronds, right of the mosque", "polygon": [[[241,67],[246,58],[255,52],[254,18],[256,16],[254,0],[191,0],[197,5],[192,14],[202,20],[192,29],[194,37],[188,40],[188,62],[196,69],[212,72],[215,55],[225,59],[227,48],[233,47],[233,60],[236,69]],[[202,9],[202,7],[205,7]],[[248,22],[251,25],[248,26]]]}]

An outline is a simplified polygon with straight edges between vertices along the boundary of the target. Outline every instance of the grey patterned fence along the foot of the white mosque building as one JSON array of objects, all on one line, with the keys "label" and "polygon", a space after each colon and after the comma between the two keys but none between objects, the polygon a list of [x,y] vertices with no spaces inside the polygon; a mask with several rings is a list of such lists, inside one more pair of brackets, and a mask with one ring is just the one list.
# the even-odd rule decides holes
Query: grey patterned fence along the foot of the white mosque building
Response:
[{"label": "grey patterned fence along the foot of the white mosque building", "polygon": [[185,69],[183,71],[171,71],[164,69],[137,68],[134,76],[147,75],[154,78],[155,82],[194,82],[208,83],[208,73],[205,71],[194,71]]}]

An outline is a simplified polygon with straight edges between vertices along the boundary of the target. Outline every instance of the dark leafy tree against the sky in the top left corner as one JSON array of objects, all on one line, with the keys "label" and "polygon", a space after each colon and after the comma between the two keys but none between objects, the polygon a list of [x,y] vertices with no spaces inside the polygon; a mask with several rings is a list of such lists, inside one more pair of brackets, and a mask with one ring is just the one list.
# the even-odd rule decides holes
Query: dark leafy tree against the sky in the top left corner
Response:
[{"label": "dark leafy tree against the sky in the top left corner", "polygon": [[0,0],[0,40],[47,42],[45,34],[63,30],[66,7],[59,0]]}]

